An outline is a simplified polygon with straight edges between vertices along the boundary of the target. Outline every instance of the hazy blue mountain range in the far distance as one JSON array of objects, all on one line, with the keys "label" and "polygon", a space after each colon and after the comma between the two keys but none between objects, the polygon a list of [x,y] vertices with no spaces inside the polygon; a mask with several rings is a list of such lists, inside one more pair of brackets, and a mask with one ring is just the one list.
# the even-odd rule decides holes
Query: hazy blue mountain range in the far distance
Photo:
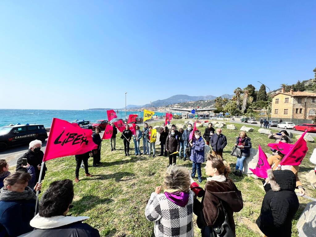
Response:
[{"label": "hazy blue mountain range in the far distance", "polygon": [[[233,95],[231,94],[223,94],[221,95],[222,98],[226,97],[228,99],[231,99]],[[155,100],[152,101],[150,104],[145,104],[145,105],[127,105],[126,108],[140,108],[140,107],[149,107],[149,106],[167,106],[167,105],[172,105],[172,104],[177,104],[181,102],[188,102],[188,101],[198,101],[198,100],[215,100],[217,96],[214,95],[200,95],[200,96],[190,96],[186,94],[177,94],[173,95],[167,99],[164,100]]]}]

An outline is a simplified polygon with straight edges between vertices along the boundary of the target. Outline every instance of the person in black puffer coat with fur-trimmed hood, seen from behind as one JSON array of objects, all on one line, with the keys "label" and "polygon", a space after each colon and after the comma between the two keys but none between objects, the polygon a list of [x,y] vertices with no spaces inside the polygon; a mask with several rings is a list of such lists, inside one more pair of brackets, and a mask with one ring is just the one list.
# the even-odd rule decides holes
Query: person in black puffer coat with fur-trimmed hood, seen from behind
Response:
[{"label": "person in black puffer coat with fur-trimmed hood, seen from behind", "polygon": [[290,237],[292,219],[299,207],[295,174],[291,170],[272,169],[267,173],[269,183],[264,186],[266,194],[256,223],[266,236]]}]

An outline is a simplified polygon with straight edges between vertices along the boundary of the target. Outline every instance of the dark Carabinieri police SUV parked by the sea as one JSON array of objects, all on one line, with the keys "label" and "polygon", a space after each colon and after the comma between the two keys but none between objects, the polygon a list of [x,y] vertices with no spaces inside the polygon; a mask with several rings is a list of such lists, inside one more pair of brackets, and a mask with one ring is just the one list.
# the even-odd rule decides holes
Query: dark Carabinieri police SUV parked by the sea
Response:
[{"label": "dark Carabinieri police SUV parked by the sea", "polygon": [[42,143],[47,138],[44,125],[38,124],[10,124],[0,127],[0,151],[6,150],[10,146],[24,145],[37,139]]}]

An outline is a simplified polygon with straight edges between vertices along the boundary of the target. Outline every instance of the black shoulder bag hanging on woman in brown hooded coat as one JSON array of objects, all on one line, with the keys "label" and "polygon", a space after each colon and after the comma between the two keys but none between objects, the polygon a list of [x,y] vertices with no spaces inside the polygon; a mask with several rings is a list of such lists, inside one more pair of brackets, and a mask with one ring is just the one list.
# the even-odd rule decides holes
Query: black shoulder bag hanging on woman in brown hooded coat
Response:
[{"label": "black shoulder bag hanging on woman in brown hooded coat", "polygon": [[205,226],[204,231],[202,236],[204,237],[235,237],[235,235],[233,234],[232,229],[229,226],[228,223],[228,216],[227,216],[227,212],[221,202],[223,211],[225,213],[225,219],[224,222],[221,225],[218,226]]}]

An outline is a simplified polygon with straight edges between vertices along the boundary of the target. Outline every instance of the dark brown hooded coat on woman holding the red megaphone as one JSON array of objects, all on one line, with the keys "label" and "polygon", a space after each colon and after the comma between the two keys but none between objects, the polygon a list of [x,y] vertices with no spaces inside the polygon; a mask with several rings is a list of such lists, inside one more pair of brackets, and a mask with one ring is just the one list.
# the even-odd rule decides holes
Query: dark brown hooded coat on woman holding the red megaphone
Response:
[{"label": "dark brown hooded coat on woman holding the red megaphone", "polygon": [[222,224],[224,221],[224,211],[227,212],[228,222],[235,235],[235,222],[233,213],[239,212],[243,208],[241,191],[239,191],[231,179],[225,182],[207,181],[205,194],[202,202],[194,199],[193,212],[197,215],[197,226],[203,229],[205,226]]}]

